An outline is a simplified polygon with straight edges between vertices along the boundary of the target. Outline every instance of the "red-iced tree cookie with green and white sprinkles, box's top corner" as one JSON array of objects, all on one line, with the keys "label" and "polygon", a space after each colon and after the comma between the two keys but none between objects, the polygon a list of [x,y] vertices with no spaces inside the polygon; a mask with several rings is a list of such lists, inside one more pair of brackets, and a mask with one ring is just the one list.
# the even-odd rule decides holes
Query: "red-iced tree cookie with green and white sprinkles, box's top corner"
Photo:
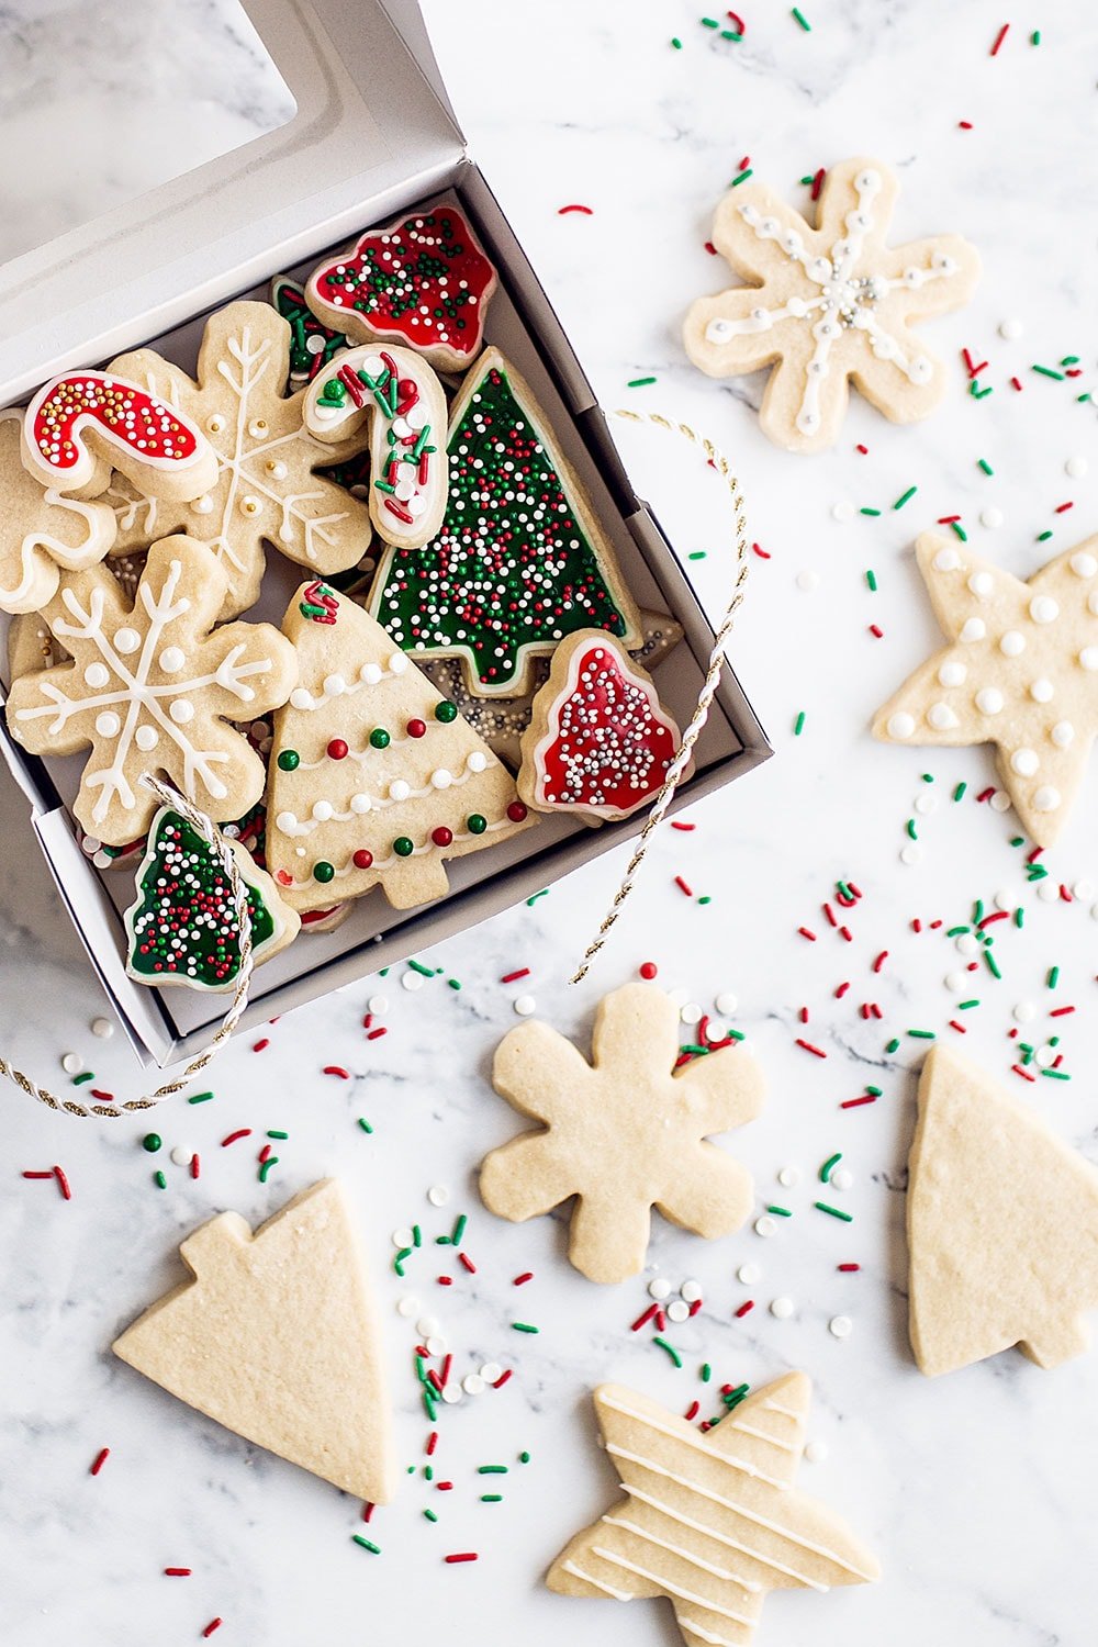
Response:
[{"label": "red-iced tree cookie with green and white sprinkles, box's top corner", "polygon": [[305,301],[352,343],[403,343],[440,372],[461,372],[484,341],[495,270],[453,206],[370,229],[321,264]]}]

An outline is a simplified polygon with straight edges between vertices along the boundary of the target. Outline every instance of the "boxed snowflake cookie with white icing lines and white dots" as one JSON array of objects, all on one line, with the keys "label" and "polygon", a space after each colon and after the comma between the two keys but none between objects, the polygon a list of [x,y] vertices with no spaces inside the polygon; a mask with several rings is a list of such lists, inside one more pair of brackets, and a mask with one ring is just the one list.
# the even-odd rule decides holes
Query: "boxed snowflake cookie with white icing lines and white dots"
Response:
[{"label": "boxed snowflake cookie with white icing lines and white dots", "polygon": [[209,632],[226,585],[204,544],[170,537],[150,550],[132,608],[92,567],[66,576],[43,611],[72,662],[13,684],[8,731],[31,754],[91,744],[72,810],[110,847],[143,835],[156,812],[142,772],[163,774],[219,822],[263,794],[263,761],[227,721],[285,703],[298,660],[270,624]]}]

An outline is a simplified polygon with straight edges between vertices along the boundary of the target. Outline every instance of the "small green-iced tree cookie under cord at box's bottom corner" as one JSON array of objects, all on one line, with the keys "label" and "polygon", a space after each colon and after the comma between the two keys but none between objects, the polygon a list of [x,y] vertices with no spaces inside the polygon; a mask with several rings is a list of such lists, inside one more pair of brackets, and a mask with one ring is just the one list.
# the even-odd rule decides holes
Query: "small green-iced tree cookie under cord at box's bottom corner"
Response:
[{"label": "small green-iced tree cookie under cord at box's bottom corner", "polygon": [[[229,840],[249,893],[252,957],[270,960],[298,935],[300,916],[240,840]],[[137,868],[137,901],[125,912],[125,970],[138,983],[230,990],[240,972],[240,926],[217,853],[184,817],[161,807]]]}]

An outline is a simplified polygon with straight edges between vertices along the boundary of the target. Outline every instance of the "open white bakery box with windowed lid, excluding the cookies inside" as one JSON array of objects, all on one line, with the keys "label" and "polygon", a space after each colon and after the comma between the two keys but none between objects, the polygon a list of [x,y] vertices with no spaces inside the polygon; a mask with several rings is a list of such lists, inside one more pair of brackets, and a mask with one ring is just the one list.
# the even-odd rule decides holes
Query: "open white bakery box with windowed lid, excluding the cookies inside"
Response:
[{"label": "open white bakery box with windowed lid, excluding the cookies inside", "polygon": [[[416,0],[245,0],[245,7],[296,100],[296,115],[3,265],[0,405],[25,402],[61,371],[104,364],[145,343],[191,371],[209,310],[237,296],[265,298],[272,275],[308,273],[323,254],[364,229],[440,198],[456,199],[499,272],[487,341],[504,349],[538,395],[637,604],[670,613],[683,626],[683,642],[657,665],[655,679],[685,725],[713,631],[658,522],[637,499],[560,321],[466,153]],[[301,568],[272,550],[257,616],[278,623],[300,578]],[[7,623],[3,614],[0,621]],[[0,682],[7,674],[2,642],[0,634]],[[82,756],[35,759],[12,741],[2,716],[0,748],[138,1057],[168,1064],[193,1054],[217,1026],[226,996],[155,990],[127,977],[122,911],[132,903],[133,876],[127,868],[95,868],[77,842],[66,802],[74,797]],[[769,754],[729,669],[677,804],[710,794]],[[639,819],[603,828],[545,819],[502,847],[449,863],[449,896],[413,911],[393,911],[375,889],[336,931],[301,934],[262,967],[242,1021],[267,1021],[415,955],[530,898],[637,827]],[[23,843],[5,842],[3,850],[20,851]]]}]

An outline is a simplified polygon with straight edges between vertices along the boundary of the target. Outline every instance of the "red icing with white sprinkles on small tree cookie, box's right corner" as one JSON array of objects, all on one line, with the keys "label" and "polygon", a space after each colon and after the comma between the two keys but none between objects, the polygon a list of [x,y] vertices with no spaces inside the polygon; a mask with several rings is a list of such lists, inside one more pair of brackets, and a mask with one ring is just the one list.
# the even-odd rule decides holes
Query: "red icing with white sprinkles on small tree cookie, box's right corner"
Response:
[{"label": "red icing with white sprinkles on small tree cookie, box's right corner", "polygon": [[652,687],[601,641],[571,659],[568,682],[550,710],[548,741],[538,746],[538,799],[624,817],[663,787],[678,749],[675,723]]}]

